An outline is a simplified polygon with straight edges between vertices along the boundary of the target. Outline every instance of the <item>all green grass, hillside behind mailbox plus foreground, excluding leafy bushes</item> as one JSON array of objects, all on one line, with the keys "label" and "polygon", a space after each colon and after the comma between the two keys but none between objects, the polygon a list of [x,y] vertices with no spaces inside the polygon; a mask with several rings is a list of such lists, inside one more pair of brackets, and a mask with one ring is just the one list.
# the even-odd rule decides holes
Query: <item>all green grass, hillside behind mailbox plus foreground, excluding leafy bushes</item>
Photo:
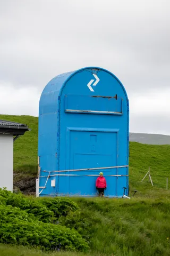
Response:
[{"label": "all green grass, hillside behind mailbox plus foreground, excluding leafy bushes", "polygon": [[[0,119],[27,124],[32,130],[14,142],[14,171],[25,175],[37,174],[38,118],[0,115]],[[131,199],[73,198],[92,227],[90,252],[87,255],[170,255],[170,146],[130,143]],[[154,187],[148,178],[150,172]],[[170,186],[170,184],[169,184]],[[48,253],[25,247],[0,244],[0,255],[47,256]],[[50,255],[72,256],[83,253],[57,252]]]}]

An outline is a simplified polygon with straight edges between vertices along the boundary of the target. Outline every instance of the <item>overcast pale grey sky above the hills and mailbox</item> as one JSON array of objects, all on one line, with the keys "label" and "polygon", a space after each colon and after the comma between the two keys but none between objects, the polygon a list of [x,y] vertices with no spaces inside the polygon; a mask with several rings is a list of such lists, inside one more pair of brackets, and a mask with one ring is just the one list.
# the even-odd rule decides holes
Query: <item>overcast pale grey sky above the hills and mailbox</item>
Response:
[{"label": "overcast pale grey sky above the hills and mailbox", "polygon": [[130,131],[170,134],[169,0],[0,0],[0,114],[38,116],[54,76],[98,66],[130,101]]}]

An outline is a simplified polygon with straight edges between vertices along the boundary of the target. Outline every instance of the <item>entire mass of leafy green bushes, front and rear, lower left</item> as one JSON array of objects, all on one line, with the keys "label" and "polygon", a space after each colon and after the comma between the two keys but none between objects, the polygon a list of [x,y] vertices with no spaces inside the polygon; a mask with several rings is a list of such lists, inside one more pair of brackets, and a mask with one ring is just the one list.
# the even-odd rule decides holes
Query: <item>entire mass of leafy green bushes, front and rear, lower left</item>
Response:
[{"label": "entire mass of leafy green bushes, front and rear, lower left", "polygon": [[37,200],[0,189],[0,242],[33,245],[45,250],[86,251],[87,242],[71,225],[67,228],[50,223],[78,209],[70,199]]}]

